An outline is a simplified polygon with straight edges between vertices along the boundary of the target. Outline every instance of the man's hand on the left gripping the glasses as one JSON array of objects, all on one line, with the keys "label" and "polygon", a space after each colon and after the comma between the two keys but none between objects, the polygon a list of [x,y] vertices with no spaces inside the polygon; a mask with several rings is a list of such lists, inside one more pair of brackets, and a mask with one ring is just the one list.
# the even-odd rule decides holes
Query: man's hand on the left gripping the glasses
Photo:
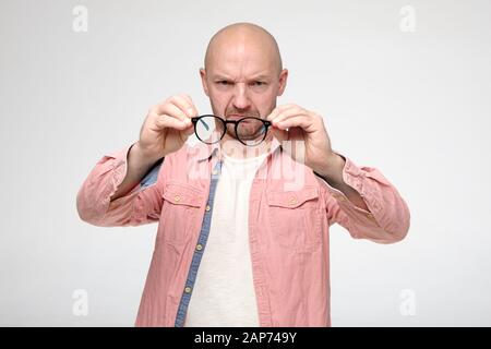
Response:
[{"label": "man's hand on the left gripping the glasses", "polygon": [[140,131],[141,153],[157,161],[179,151],[194,132],[191,118],[195,116],[196,107],[188,95],[172,96],[151,108]]}]

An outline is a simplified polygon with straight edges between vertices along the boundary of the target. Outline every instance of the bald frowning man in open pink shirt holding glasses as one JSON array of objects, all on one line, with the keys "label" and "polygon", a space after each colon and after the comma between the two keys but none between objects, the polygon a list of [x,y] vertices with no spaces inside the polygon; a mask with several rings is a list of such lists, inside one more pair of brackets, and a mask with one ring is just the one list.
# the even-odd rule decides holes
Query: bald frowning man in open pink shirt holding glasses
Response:
[{"label": "bald frowning man in open pink shirt holding glasses", "polygon": [[188,95],[157,104],[77,194],[89,224],[158,222],[135,325],[331,326],[330,227],[400,241],[406,203],[332,149],[319,113],[276,105],[288,71],[264,28],[220,29],[200,75],[213,115]]}]

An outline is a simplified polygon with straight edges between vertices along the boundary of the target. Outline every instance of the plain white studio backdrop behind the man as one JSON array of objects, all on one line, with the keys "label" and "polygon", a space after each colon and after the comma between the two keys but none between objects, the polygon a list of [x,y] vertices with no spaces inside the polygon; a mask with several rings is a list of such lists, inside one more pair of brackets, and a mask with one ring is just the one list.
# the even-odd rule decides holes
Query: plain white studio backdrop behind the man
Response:
[{"label": "plain white studio backdrop behind the man", "polygon": [[253,22],[290,72],[278,103],[321,113],[411,210],[396,244],[332,228],[333,326],[490,326],[490,15],[487,0],[0,0],[0,325],[133,325],[157,226],[89,226],[76,192],[156,103],[187,93],[209,112],[207,41]]}]

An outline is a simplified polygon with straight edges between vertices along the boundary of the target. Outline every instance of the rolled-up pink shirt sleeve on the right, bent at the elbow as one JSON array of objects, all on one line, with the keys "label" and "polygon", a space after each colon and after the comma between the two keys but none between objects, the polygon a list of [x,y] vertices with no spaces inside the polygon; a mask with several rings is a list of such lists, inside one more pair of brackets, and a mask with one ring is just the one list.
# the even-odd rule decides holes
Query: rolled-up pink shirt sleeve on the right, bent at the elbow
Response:
[{"label": "rolled-up pink shirt sleeve on the right, bent at the elbow", "polygon": [[360,194],[369,210],[356,206],[342,191],[318,176],[324,189],[330,225],[342,225],[355,239],[378,243],[403,240],[409,230],[410,213],[398,191],[376,168],[358,167],[343,157],[346,160],[343,179]]}]

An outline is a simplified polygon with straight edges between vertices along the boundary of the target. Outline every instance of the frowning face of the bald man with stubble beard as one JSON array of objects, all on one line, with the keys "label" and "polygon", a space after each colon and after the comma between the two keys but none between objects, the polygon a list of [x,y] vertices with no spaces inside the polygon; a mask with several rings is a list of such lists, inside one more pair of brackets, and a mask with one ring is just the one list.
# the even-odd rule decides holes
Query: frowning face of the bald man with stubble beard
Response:
[{"label": "frowning face of the bald man with stubble beard", "polygon": [[[226,120],[266,119],[276,107],[288,75],[286,70],[279,72],[275,58],[274,51],[268,47],[262,49],[260,43],[216,44],[206,70],[200,71],[214,115]],[[254,137],[258,123],[241,129]],[[235,139],[231,125],[226,136]]]}]

